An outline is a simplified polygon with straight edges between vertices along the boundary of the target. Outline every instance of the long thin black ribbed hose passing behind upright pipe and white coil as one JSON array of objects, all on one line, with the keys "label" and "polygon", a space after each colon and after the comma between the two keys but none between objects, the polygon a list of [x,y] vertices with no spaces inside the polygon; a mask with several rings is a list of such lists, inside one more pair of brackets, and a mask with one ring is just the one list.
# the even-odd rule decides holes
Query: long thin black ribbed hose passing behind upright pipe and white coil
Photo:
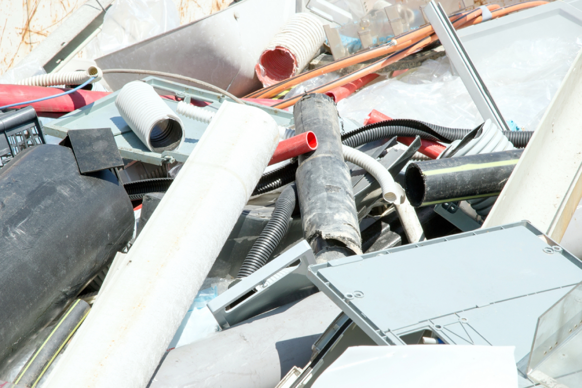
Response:
[{"label": "long thin black ribbed hose passing behind upright pipe and white coil", "polygon": [[[359,147],[372,141],[394,136],[420,136],[426,140],[450,143],[466,136],[472,129],[447,128],[417,120],[396,119],[368,124],[342,135],[342,144]],[[517,148],[524,148],[530,141],[533,131],[503,131],[503,134]],[[253,195],[268,193],[295,180],[297,162],[290,163],[264,174],[259,180]]]}]

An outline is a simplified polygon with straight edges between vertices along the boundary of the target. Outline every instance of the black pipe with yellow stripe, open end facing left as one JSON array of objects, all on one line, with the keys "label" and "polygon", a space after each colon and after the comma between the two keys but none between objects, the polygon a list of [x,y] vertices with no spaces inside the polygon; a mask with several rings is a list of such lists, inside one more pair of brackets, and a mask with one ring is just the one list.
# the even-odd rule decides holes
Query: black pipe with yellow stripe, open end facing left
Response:
[{"label": "black pipe with yellow stripe, open end facing left", "polygon": [[414,207],[498,195],[523,149],[410,163],[406,197]]}]

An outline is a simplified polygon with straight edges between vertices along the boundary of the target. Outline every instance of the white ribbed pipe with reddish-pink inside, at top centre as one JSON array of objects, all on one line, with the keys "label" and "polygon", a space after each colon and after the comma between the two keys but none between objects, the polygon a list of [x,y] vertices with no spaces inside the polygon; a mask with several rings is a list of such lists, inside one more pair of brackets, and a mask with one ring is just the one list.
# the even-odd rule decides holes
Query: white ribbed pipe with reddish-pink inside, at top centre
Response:
[{"label": "white ribbed pipe with reddish-pink inside, at top centre", "polygon": [[325,41],[322,23],[311,13],[296,13],[261,53],[255,72],[264,86],[299,74]]}]

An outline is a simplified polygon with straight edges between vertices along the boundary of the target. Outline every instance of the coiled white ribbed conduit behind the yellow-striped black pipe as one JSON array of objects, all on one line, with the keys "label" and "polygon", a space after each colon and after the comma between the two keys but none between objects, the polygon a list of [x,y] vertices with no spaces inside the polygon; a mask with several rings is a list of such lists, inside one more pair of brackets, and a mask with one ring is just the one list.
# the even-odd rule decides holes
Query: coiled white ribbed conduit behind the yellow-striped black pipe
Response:
[{"label": "coiled white ribbed conduit behind the yellow-striped black pipe", "polygon": [[[451,143],[449,147],[439,155],[439,159],[449,158],[450,156],[477,155],[515,149],[513,144],[508,140],[503,132],[491,122],[490,119],[485,121],[480,134],[477,134],[473,140],[459,148],[459,143],[462,141],[463,139],[453,141],[453,143]],[[485,218],[485,216],[489,214],[489,211],[491,211],[496,200],[497,196],[495,195],[495,197],[475,198],[474,200],[467,200],[467,202],[469,202],[478,215]]]}]

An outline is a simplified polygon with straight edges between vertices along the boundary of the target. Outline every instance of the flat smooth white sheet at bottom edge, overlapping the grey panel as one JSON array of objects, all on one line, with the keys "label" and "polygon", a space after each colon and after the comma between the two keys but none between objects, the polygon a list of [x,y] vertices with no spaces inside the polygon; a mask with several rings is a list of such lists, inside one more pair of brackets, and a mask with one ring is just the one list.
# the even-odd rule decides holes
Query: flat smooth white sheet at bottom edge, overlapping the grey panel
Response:
[{"label": "flat smooth white sheet at bottom edge, overlapping the grey panel", "polygon": [[517,388],[513,346],[354,346],[313,388]]}]

